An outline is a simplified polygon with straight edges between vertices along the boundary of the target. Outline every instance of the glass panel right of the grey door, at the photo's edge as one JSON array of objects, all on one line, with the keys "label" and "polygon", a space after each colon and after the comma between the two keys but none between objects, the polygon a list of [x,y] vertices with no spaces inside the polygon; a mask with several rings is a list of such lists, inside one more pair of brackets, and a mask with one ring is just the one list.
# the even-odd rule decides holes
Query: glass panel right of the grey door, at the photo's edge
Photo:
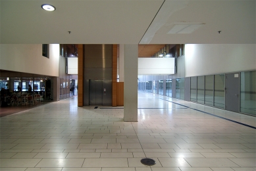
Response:
[{"label": "glass panel right of the grey door, at the photo's edge", "polygon": [[240,112],[256,115],[256,71],[241,73]]}]

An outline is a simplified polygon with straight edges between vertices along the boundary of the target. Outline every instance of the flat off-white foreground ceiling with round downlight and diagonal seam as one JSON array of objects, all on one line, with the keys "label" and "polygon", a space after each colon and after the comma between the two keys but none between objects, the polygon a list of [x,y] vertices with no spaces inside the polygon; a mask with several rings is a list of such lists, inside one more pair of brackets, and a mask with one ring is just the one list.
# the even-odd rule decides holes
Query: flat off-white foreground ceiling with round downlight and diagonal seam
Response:
[{"label": "flat off-white foreground ceiling with round downlight and diagonal seam", "polygon": [[[255,0],[0,2],[2,44],[255,44]],[[41,9],[44,3],[56,10]],[[175,24],[202,26],[193,33],[166,34]]]}]

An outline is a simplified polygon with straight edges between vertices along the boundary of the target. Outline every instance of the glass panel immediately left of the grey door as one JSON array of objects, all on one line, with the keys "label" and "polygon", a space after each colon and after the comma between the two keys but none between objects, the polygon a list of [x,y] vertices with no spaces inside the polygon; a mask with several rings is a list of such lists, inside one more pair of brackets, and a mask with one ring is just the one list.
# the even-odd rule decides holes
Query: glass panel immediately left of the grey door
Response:
[{"label": "glass panel immediately left of the grey door", "polygon": [[225,77],[224,74],[215,75],[215,102],[214,106],[224,109],[225,104]]}]

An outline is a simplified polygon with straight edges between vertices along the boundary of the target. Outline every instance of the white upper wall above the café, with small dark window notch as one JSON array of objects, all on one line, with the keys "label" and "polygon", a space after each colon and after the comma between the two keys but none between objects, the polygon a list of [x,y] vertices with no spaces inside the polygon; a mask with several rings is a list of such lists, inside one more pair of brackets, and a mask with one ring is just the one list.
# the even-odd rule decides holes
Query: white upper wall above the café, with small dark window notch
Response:
[{"label": "white upper wall above the caf\u00e9, with small dark window notch", "polygon": [[1,44],[0,69],[59,77],[59,44],[49,45],[49,58],[41,44]]}]

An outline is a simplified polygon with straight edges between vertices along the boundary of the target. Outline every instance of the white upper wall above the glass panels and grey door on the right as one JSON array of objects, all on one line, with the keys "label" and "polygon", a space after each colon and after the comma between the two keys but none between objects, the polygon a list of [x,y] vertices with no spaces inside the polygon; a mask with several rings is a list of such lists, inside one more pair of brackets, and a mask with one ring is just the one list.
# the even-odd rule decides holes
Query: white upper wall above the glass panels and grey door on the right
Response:
[{"label": "white upper wall above the glass panels and grey door on the right", "polygon": [[186,77],[256,69],[255,44],[187,44]]}]

